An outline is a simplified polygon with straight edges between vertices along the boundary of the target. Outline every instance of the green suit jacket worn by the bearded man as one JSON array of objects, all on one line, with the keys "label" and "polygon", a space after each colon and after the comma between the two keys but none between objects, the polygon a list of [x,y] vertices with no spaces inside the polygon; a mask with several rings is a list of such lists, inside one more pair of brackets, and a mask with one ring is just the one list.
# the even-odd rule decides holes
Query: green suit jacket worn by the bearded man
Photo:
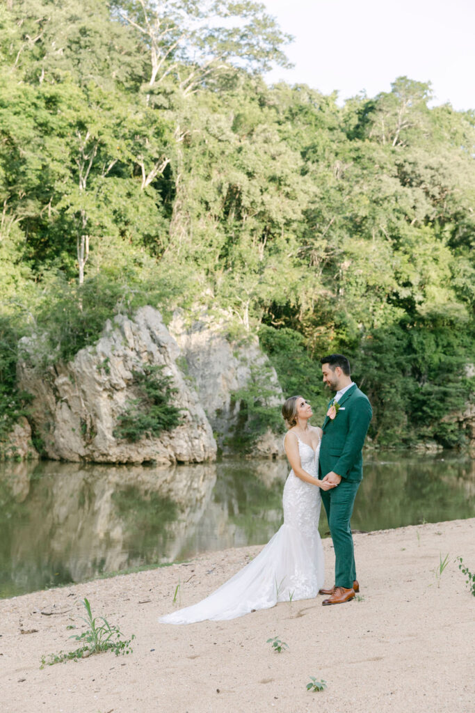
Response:
[{"label": "green suit jacket worn by the bearded man", "polygon": [[338,403],[335,419],[326,416],[323,422],[320,478],[333,471],[347,481],[358,482],[363,476],[361,451],[372,418],[371,404],[356,384]]}]

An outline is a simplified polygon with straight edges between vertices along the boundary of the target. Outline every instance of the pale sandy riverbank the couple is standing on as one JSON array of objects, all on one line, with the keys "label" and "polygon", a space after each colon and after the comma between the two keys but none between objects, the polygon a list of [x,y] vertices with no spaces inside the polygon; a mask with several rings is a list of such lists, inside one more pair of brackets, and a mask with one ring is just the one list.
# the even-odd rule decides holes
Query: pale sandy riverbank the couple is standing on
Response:
[{"label": "pale sandy riverbank the couple is standing on", "polygon": [[[326,582],[333,549],[323,540]],[[0,600],[2,713],[470,713],[475,696],[475,597],[454,559],[475,569],[475,518],[355,535],[360,600],[279,604],[231,622],[160,625],[211,593],[261,547]],[[439,583],[439,556],[449,564]],[[439,584],[439,586],[438,586]],[[81,600],[126,637],[110,653],[40,670],[73,648]],[[266,643],[288,644],[279,654]],[[310,693],[310,676],[328,688]]]}]

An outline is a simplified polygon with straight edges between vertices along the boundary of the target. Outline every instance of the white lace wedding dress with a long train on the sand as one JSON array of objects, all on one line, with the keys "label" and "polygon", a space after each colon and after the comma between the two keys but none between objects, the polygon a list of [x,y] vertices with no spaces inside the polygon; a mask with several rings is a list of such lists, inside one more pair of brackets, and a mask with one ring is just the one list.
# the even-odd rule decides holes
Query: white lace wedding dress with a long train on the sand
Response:
[{"label": "white lace wedding dress with a long train on the sand", "polygon": [[[318,478],[318,452],[299,439],[302,467]],[[283,488],[283,525],[254,560],[201,602],[160,618],[165,624],[241,617],[277,602],[310,599],[325,578],[318,533],[320,488],[291,471]]]}]

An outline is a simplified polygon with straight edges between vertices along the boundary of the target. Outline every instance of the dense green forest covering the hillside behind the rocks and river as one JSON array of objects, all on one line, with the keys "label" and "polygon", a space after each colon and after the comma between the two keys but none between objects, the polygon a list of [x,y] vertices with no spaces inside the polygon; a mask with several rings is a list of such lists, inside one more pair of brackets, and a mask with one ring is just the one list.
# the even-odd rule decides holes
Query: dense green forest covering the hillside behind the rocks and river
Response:
[{"label": "dense green forest covering the hillside behind the rocks and river", "polygon": [[202,304],[320,409],[348,353],[375,441],[463,443],[475,115],[406,77],[268,88],[287,40],[251,0],[1,5],[0,416],[22,334],[69,358],[113,312]]}]

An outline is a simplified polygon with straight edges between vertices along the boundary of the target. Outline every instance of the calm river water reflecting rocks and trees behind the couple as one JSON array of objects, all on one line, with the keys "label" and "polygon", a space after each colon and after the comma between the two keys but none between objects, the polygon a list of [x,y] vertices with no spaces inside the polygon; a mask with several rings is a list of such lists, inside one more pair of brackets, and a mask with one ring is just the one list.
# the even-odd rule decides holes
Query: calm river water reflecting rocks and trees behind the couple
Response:
[{"label": "calm river water reflecting rocks and trees behind the couple", "polygon": [[[282,522],[287,474],[284,460],[245,458],[170,468],[0,463],[0,597],[266,543]],[[353,530],[474,515],[468,456],[366,454]]]}]

